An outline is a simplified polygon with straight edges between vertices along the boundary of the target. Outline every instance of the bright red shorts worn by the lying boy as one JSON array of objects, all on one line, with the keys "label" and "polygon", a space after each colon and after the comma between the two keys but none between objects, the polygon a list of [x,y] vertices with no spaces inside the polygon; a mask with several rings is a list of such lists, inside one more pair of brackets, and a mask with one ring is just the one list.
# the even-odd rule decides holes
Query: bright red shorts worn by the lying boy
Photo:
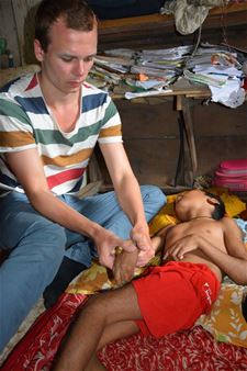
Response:
[{"label": "bright red shorts worn by the lying boy", "polygon": [[144,335],[160,338],[191,328],[216,300],[220,282],[201,263],[171,261],[149,268],[148,274],[132,282],[144,321],[136,321]]}]

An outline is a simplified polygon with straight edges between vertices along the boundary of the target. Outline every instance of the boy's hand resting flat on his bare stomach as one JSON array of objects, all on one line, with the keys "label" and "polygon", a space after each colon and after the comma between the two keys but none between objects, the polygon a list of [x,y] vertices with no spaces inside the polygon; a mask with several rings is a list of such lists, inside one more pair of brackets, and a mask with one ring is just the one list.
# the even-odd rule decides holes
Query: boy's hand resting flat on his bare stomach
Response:
[{"label": "boy's hand resting flat on his bare stomach", "polygon": [[175,244],[166,248],[164,259],[172,257],[175,260],[183,259],[184,255],[200,248],[200,236],[191,234],[179,238]]}]

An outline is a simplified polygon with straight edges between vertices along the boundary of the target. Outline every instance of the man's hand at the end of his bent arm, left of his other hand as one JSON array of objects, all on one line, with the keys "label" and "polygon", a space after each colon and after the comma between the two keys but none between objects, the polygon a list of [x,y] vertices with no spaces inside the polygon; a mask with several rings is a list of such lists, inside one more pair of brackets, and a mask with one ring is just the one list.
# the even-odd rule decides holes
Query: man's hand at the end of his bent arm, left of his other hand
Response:
[{"label": "man's hand at the end of his bent arm, left of his other hand", "polygon": [[123,250],[132,252],[136,250],[136,246],[132,240],[124,240],[112,232],[100,227],[94,236],[94,244],[99,255],[99,261],[102,266],[110,269],[113,268],[115,259],[115,247],[120,246]]}]

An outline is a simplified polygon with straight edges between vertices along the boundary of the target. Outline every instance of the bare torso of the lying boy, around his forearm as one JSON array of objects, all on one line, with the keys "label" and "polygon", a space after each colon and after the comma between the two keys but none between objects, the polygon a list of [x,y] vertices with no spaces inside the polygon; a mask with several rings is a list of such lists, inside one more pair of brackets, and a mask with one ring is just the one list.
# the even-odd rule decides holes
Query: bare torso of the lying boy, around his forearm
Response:
[{"label": "bare torso of the lying boy, around his forearm", "polygon": [[[165,251],[169,249],[169,247],[172,246],[178,239],[184,238],[186,236],[192,234],[202,236],[214,247],[226,252],[222,221],[215,221],[211,218],[195,218],[171,226],[167,231]],[[180,259],[180,261],[204,263],[216,274],[220,281],[222,280],[223,272],[221,269],[200,249],[187,252],[184,257]]]}]

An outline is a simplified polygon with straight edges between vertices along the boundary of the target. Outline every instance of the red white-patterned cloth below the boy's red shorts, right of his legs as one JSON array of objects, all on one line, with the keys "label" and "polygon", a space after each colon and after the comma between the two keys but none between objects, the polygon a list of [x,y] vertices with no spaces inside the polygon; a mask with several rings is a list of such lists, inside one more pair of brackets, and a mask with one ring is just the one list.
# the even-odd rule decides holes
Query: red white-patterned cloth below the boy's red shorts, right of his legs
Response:
[{"label": "red white-patterned cloth below the boy's red shorts, right of his legs", "polygon": [[246,371],[247,349],[214,341],[201,326],[160,339],[135,335],[104,347],[108,371]]}]

